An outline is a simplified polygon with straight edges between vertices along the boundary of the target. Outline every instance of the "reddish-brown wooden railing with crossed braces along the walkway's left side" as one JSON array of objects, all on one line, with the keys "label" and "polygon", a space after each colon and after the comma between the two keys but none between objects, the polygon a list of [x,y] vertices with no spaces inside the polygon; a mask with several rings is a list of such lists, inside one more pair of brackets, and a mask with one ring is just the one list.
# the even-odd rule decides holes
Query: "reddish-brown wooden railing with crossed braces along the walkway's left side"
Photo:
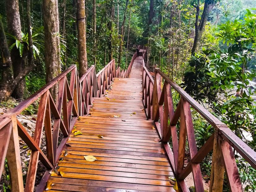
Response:
[{"label": "reddish-brown wooden railing with crossed braces along the walkway's left side", "polygon": [[[134,54],[128,69],[122,73],[122,77],[129,76],[136,56],[137,53]],[[109,62],[98,74],[96,74],[95,67],[91,66],[80,79],[76,66],[70,66],[38,92],[0,117],[0,178],[5,158],[7,158],[12,191],[34,191],[38,160],[45,166],[46,171],[36,191],[45,190],[46,182],[50,176],[49,172],[56,168],[59,156],[75,121],[79,116],[87,115],[95,97],[102,97],[105,94],[115,74],[115,60]],[[50,91],[54,86],[58,86],[56,102]],[[17,115],[35,101],[39,101],[39,107],[34,136],[32,137],[19,122]],[[19,137],[31,150],[25,189],[22,178]],[[46,155],[41,150],[42,137],[45,137],[46,141]]]}]

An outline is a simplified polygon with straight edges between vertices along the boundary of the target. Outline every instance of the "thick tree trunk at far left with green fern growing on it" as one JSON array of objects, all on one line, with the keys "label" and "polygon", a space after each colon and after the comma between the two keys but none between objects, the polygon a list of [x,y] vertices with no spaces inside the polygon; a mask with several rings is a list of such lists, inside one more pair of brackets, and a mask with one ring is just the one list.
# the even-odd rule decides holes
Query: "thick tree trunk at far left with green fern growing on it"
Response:
[{"label": "thick tree trunk at far left with green fern growing on it", "polygon": [[[21,24],[20,24],[20,15],[19,15],[19,0],[6,0],[6,18],[7,18],[7,27],[8,32],[15,36],[17,39],[21,40]],[[15,43],[15,39],[11,40],[11,44]],[[24,51],[26,49],[23,49]],[[24,54],[26,55],[26,54]],[[25,58],[23,58],[25,59]],[[19,75],[19,72],[23,70],[23,61],[19,54],[19,49],[15,46],[11,50],[11,60],[13,65],[13,75],[14,78]],[[12,96],[15,99],[22,99],[24,92],[24,81],[21,81],[15,88]]]}]

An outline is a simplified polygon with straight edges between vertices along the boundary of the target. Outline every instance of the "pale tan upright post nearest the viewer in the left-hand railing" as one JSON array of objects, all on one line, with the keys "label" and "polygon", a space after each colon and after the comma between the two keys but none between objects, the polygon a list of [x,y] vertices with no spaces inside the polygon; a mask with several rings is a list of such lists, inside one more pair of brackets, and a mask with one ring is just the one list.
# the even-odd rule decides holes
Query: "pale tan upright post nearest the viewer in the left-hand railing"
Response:
[{"label": "pale tan upright post nearest the viewer in the left-hand railing", "polygon": [[[22,168],[20,160],[19,151],[19,135],[18,127],[15,116],[11,116],[11,137],[8,145],[8,150],[6,153],[8,168],[10,171],[11,178],[11,191],[12,192],[23,192],[23,178],[22,178]],[[2,154],[1,154],[2,155]]]}]

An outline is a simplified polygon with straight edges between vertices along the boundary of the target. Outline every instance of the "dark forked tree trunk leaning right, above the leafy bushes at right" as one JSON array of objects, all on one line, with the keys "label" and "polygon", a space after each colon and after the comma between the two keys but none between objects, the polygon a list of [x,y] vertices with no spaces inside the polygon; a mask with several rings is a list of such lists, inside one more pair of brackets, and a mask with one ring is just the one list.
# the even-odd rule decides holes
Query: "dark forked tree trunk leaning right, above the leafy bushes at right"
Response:
[{"label": "dark forked tree trunk leaning right, above the leafy bushes at right", "polygon": [[[193,55],[196,51],[199,49],[201,37],[207,22],[207,19],[210,15],[210,12],[212,8],[215,6],[216,0],[205,0],[204,1],[204,7],[203,7],[203,13],[201,15],[201,19],[199,21],[199,15],[200,15],[200,0],[197,1],[197,3],[193,4],[193,6],[196,8],[196,20],[195,20],[195,38],[194,38],[194,44],[191,49],[191,54]],[[199,23],[198,23],[199,22]]]}]

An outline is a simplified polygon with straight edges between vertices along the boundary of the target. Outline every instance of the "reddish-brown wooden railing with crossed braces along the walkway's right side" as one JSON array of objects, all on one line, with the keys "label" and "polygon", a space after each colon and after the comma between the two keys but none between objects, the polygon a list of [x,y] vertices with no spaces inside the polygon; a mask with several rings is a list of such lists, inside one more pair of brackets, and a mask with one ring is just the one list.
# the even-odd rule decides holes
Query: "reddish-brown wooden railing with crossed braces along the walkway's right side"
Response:
[{"label": "reddish-brown wooden railing with crossed braces along the walkway's right side", "polygon": [[[175,111],[172,91],[176,91],[180,96]],[[155,78],[153,79],[147,68],[143,66],[143,103],[147,117],[155,121],[161,142],[168,154],[173,172],[182,191],[189,191],[184,179],[191,172],[196,191],[204,191],[199,163],[212,150],[210,191],[222,191],[224,172],[230,191],[243,190],[233,150],[236,150],[256,169],[255,151],[158,68],[155,69]],[[214,134],[199,151],[197,150],[190,108],[197,111],[215,128]],[[179,129],[176,127],[178,122]],[[173,146],[172,149],[169,142]],[[189,146],[190,162],[184,168],[186,142]]]}]

